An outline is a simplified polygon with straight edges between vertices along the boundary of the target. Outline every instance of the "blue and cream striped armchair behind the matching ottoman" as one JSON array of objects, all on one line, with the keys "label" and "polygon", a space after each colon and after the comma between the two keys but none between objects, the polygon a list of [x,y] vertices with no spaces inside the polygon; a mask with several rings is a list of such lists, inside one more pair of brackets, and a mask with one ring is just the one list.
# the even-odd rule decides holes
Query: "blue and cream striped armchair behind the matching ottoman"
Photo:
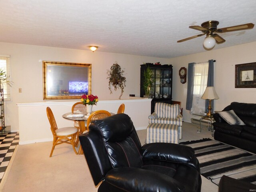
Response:
[{"label": "blue and cream striped armchair behind the matching ottoman", "polygon": [[155,111],[148,116],[149,123],[174,124],[178,125],[179,139],[182,138],[182,121],[183,116],[180,113],[179,104],[167,104],[158,102],[155,105]]}]

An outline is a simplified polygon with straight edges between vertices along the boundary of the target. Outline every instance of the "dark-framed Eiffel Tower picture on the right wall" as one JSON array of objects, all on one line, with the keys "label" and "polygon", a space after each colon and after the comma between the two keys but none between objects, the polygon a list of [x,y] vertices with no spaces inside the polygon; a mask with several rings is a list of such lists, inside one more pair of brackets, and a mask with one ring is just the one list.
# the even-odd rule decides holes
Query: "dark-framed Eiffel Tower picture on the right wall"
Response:
[{"label": "dark-framed Eiffel Tower picture on the right wall", "polygon": [[238,64],[235,88],[256,88],[256,62]]}]

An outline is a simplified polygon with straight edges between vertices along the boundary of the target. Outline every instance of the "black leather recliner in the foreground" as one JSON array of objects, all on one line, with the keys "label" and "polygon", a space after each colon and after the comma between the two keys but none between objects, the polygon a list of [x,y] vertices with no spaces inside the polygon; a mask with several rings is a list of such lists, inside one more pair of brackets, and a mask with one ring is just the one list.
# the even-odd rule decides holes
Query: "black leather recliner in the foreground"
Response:
[{"label": "black leather recliner in the foreground", "polygon": [[79,136],[98,192],[200,192],[194,150],[172,143],[141,146],[130,117],[95,120]]}]

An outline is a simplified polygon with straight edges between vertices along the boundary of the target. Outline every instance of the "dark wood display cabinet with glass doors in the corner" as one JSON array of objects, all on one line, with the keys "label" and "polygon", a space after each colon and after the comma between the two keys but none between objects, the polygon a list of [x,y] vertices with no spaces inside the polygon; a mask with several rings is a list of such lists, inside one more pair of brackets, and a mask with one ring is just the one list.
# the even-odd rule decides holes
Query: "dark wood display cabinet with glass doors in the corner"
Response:
[{"label": "dark wood display cabinet with glass doors in the corner", "polygon": [[171,104],[172,102],[172,65],[156,65],[146,63],[140,65],[140,97],[145,95],[143,89],[144,71],[147,66],[152,70],[152,87],[150,89],[151,113],[154,112],[156,102]]}]

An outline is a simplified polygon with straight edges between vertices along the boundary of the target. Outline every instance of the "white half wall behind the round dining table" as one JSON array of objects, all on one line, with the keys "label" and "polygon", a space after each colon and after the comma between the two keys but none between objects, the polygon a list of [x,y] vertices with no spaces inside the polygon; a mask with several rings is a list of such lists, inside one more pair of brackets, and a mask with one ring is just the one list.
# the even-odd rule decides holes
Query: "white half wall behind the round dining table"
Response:
[{"label": "white half wall behind the round dining table", "polygon": [[[50,123],[46,115],[46,107],[48,106],[52,109],[58,128],[73,126],[74,122],[62,118],[62,115],[71,112],[74,103],[72,101],[18,103],[19,144],[53,140]],[[131,97],[127,100],[99,101],[96,106],[93,106],[92,110],[107,110],[116,113],[122,103],[125,105],[124,113],[130,116],[136,130],[146,129],[148,116],[150,115],[151,99]]]}]

